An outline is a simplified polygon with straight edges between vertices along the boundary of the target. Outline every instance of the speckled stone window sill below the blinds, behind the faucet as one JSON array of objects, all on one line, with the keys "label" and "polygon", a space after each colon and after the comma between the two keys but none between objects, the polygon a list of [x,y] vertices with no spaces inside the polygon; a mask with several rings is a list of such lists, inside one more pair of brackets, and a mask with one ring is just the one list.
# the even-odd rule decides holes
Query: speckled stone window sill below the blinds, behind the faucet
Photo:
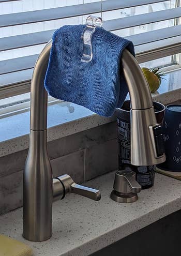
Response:
[{"label": "speckled stone window sill below the blinds, behind the faucet", "polygon": [[[153,100],[168,104],[181,99],[181,70],[167,73]],[[48,107],[48,141],[60,139],[115,121],[69,102],[56,101]],[[28,148],[29,110],[1,117],[0,157]]]}]

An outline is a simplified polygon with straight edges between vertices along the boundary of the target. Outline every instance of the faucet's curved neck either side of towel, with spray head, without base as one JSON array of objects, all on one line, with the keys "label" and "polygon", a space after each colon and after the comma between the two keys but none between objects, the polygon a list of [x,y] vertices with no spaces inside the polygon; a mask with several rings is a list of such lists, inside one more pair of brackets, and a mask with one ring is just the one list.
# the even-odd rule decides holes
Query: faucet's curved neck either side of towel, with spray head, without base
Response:
[{"label": "faucet's curved neck either side of towel, with spray head, without base", "polygon": [[[40,53],[33,72],[31,85],[31,130],[33,131],[47,129],[48,98],[44,89],[44,78],[51,46],[52,40]],[[122,64],[131,100],[131,163],[133,165],[160,163],[164,159],[157,157],[156,153],[153,127],[158,124],[148,83],[136,59],[127,49],[123,52]]]}]

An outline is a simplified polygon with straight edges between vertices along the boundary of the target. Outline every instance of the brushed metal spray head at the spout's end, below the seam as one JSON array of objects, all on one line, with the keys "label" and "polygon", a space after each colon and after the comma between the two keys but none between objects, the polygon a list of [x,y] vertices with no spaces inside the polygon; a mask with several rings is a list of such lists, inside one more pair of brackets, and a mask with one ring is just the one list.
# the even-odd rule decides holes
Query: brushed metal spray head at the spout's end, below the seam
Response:
[{"label": "brushed metal spray head at the spout's end, below the seam", "polygon": [[165,161],[156,153],[153,127],[157,126],[154,108],[131,110],[131,164],[154,165]]}]

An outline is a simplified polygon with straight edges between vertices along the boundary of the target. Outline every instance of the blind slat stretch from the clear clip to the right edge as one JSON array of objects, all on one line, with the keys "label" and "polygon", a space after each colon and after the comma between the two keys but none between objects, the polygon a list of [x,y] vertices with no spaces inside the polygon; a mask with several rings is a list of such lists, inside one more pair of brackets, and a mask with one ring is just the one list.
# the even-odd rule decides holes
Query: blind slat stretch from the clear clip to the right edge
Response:
[{"label": "blind slat stretch from the clear clip to the right edge", "polygon": [[181,7],[104,21],[103,27],[109,31],[116,31],[118,29],[171,20],[179,17],[181,17]]}]

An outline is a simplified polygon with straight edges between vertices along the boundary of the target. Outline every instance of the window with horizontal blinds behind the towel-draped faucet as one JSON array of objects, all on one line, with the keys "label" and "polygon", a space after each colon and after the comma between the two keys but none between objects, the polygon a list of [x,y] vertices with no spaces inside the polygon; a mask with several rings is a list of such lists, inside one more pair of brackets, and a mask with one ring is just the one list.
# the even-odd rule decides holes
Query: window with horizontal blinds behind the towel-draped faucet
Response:
[{"label": "window with horizontal blinds behind the towel-draped faucet", "polygon": [[0,0],[0,99],[28,93],[36,58],[65,24],[101,15],[103,27],[132,40],[139,63],[180,61],[180,0]]}]

